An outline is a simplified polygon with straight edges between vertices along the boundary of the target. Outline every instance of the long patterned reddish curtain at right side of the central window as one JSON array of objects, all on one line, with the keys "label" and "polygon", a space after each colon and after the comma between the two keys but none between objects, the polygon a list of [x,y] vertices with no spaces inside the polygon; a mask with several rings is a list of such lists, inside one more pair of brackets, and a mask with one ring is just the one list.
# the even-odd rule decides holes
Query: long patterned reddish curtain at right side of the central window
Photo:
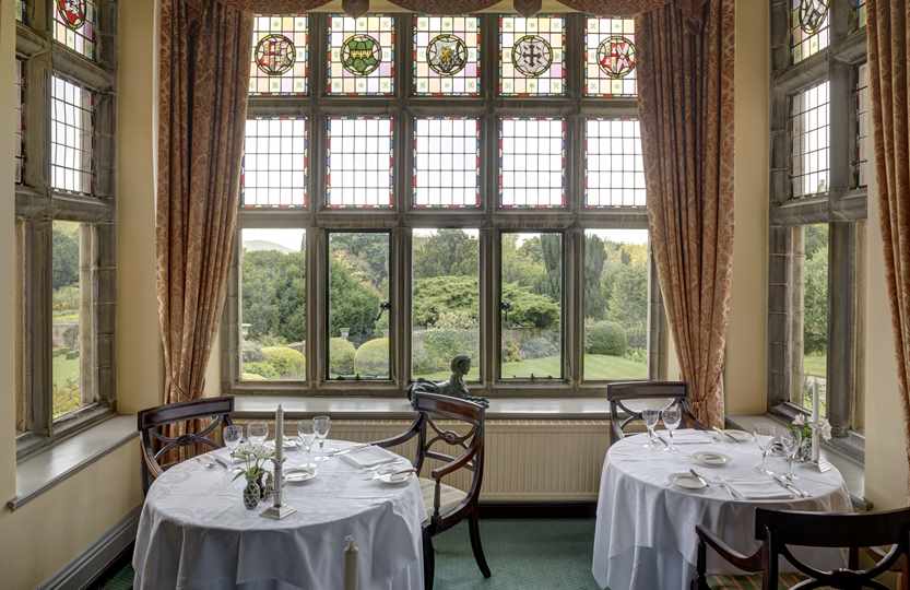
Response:
[{"label": "long patterned reddish curtain at right side of the central window", "polygon": [[734,0],[636,19],[650,240],[693,411],[722,426],[733,256]]}]

